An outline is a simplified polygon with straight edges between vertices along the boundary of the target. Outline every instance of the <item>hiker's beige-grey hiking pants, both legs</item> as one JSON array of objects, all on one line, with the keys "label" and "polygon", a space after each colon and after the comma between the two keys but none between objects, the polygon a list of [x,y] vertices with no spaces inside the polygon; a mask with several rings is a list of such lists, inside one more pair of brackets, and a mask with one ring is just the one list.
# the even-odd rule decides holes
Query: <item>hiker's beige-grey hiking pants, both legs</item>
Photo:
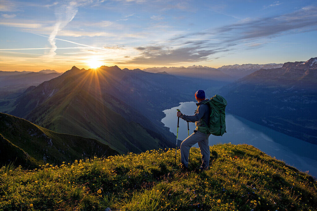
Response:
[{"label": "hiker's beige-grey hiking pants, both legs", "polygon": [[201,167],[207,168],[209,166],[209,159],[210,159],[210,148],[209,148],[209,138],[210,134],[201,133],[197,131],[196,133],[191,134],[187,137],[180,145],[180,162],[188,167],[188,157],[189,157],[189,150],[191,146],[198,143],[201,153],[201,160],[202,164]]}]

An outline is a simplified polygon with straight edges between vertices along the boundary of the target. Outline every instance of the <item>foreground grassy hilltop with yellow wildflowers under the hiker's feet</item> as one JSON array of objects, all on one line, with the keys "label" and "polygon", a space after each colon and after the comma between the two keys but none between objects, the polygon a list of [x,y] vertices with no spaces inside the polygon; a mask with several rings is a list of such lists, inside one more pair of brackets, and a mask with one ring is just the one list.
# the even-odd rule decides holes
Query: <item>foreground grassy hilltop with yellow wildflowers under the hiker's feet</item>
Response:
[{"label": "foreground grassy hilltop with yellow wildflowers under the hiker's feet", "polygon": [[210,147],[210,169],[174,164],[175,149],[0,170],[3,210],[317,210],[311,176],[253,146]]}]

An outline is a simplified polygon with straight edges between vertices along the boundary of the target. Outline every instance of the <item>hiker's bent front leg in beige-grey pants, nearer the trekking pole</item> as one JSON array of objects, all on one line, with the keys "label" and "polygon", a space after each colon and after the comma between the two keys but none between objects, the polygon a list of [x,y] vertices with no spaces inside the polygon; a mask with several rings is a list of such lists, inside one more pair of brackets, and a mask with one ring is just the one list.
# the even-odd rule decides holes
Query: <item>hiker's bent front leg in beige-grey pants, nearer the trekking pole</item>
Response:
[{"label": "hiker's bent front leg in beige-grey pants, nearer the trekking pole", "polygon": [[[197,131],[196,133],[191,134],[180,145],[180,161],[186,167],[188,167],[188,157],[191,146],[193,146],[197,142],[199,143],[199,141],[206,139],[206,134],[199,133],[200,132]],[[201,134],[204,134],[204,136],[202,136]]]}]

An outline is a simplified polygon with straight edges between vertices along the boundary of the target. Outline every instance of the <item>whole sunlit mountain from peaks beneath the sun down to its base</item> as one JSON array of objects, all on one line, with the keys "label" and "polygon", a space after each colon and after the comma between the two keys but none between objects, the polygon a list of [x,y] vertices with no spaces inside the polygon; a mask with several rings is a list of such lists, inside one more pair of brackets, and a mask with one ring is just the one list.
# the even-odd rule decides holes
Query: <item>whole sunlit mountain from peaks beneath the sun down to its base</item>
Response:
[{"label": "whole sunlit mountain from peaks beneath the sun down to its base", "polygon": [[[113,71],[121,69],[114,67]],[[114,74],[113,78],[109,77],[111,74]],[[104,89],[111,87],[120,77],[115,72],[73,67],[61,77],[30,88],[17,100],[16,109],[11,114],[56,132],[95,138],[121,153],[171,145],[155,131],[133,122],[137,120],[152,125],[136,110],[107,94]],[[128,122],[117,113],[120,111],[133,121]]]}]

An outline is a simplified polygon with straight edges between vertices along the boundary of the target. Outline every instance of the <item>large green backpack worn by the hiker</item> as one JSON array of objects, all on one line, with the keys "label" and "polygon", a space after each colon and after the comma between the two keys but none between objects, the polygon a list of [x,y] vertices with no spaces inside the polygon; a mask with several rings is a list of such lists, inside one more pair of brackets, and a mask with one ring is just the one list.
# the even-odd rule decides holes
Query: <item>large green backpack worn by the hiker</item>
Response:
[{"label": "large green backpack worn by the hiker", "polygon": [[[210,118],[209,127],[198,126],[198,131],[203,133],[211,133],[216,136],[222,136],[226,131],[226,105],[227,101],[223,96],[215,95],[210,98],[204,104],[209,104],[210,106]],[[202,120],[205,125],[207,125],[204,120]]]}]

